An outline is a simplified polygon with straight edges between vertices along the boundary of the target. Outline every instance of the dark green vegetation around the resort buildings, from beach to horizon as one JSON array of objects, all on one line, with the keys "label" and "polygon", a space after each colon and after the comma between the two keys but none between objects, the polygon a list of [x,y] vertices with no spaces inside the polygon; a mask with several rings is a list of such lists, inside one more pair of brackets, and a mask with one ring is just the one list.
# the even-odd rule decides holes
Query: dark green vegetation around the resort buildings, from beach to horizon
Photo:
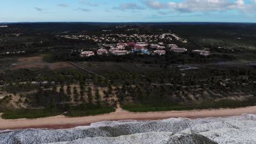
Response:
[{"label": "dark green vegetation around the resort buildings, from beach to horizon", "polygon": [[[2,117],[91,116],[113,112],[117,103],[132,112],[255,105],[255,24],[176,24],[145,23],[145,26],[137,26],[131,23],[127,27],[138,31],[126,31],[127,27],[115,28],[118,23],[105,23],[104,28],[112,32],[104,33],[99,23],[97,26],[95,23],[66,23],[66,26],[61,23],[13,24],[18,28],[0,31],[3,35],[0,41]],[[84,26],[94,31],[87,31],[90,28]],[[74,28],[74,31],[69,28]],[[96,51],[100,45],[92,40],[61,37],[99,37],[111,33],[159,35],[170,31],[187,39],[188,43],[174,38],[156,38],[158,40],[154,43],[177,44],[188,49],[187,52],[176,53],[167,48],[164,56],[131,53],[125,56],[95,55],[82,58],[80,51]],[[12,33],[23,34],[16,37]],[[119,37],[115,40],[109,43],[126,42]],[[202,57],[191,52],[195,49],[208,50],[212,55]],[[21,61],[18,58],[38,55],[43,57],[40,64],[33,58]],[[72,61],[106,79],[57,63],[65,61]],[[20,63],[32,68],[15,69],[15,65]],[[53,63],[56,64],[48,67]],[[60,68],[55,69],[56,65]],[[191,67],[197,69],[186,70]]]}]

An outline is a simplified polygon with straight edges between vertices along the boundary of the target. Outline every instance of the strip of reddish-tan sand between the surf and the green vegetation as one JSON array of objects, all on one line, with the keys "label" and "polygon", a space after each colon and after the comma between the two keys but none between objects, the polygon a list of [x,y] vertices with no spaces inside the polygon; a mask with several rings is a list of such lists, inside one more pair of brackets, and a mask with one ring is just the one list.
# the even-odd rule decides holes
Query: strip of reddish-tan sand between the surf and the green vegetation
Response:
[{"label": "strip of reddish-tan sand between the surf and the green vegetation", "polygon": [[117,110],[116,112],[86,117],[55,116],[37,119],[0,119],[0,130],[17,129],[68,129],[78,126],[86,126],[102,121],[137,120],[149,121],[167,118],[207,118],[207,117],[229,117],[241,116],[244,113],[256,114],[256,106],[242,107],[237,109],[218,110],[191,110],[191,111],[161,111],[161,112],[128,112]]}]

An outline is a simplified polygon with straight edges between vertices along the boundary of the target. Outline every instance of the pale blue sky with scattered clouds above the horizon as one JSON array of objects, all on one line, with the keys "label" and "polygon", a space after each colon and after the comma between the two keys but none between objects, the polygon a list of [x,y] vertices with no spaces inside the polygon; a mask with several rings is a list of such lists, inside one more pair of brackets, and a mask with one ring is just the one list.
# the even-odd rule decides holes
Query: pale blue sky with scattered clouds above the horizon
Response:
[{"label": "pale blue sky with scattered clouds above the horizon", "polygon": [[256,0],[0,0],[0,22],[256,22]]}]

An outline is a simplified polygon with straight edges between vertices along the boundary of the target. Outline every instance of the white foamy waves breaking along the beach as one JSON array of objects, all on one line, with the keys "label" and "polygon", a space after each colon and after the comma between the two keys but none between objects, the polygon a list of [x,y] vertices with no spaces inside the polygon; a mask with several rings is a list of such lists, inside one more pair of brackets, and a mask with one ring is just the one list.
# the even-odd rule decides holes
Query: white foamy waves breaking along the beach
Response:
[{"label": "white foamy waves breaking along the beach", "polygon": [[256,143],[256,115],[227,118],[169,118],[104,121],[72,129],[0,131],[5,143]]}]

